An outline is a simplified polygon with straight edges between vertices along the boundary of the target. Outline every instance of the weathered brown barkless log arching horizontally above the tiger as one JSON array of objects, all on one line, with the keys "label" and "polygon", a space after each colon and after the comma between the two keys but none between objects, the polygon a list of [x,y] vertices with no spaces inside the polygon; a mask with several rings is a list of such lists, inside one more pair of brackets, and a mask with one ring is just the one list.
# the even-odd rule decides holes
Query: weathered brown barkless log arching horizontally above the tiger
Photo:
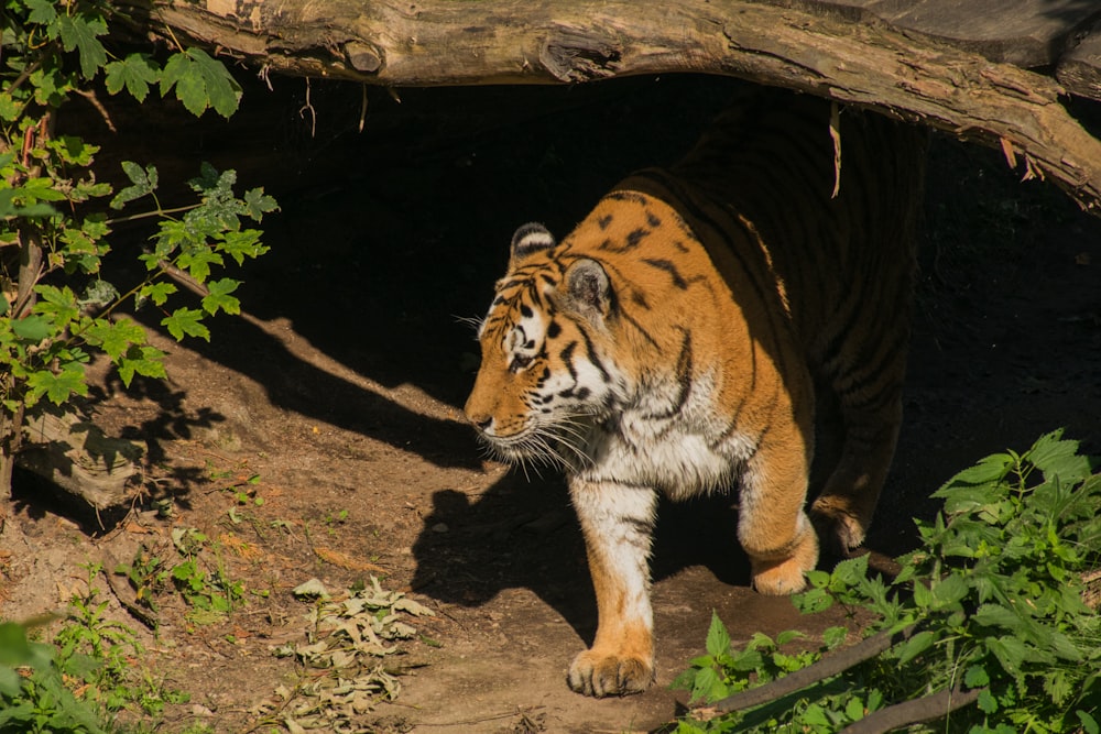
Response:
[{"label": "weathered brown barkless log arching horizontally above the tiger", "polygon": [[844,20],[748,0],[131,2],[149,33],[217,48],[262,74],[390,86],[741,77],[979,140],[1083,207],[1101,201],[1101,142],[1059,102],[1054,79],[866,13]]}]

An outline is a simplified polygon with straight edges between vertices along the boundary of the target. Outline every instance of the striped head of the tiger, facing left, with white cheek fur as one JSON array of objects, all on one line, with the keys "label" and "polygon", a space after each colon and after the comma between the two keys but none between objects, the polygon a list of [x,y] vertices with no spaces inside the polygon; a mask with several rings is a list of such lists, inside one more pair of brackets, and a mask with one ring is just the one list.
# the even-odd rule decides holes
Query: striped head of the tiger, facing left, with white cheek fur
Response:
[{"label": "striped head of the tiger, facing left, with white cheek fur", "polygon": [[542,224],[512,239],[509,271],[478,331],[466,415],[498,458],[576,464],[622,384],[610,359],[615,297],[604,267]]}]

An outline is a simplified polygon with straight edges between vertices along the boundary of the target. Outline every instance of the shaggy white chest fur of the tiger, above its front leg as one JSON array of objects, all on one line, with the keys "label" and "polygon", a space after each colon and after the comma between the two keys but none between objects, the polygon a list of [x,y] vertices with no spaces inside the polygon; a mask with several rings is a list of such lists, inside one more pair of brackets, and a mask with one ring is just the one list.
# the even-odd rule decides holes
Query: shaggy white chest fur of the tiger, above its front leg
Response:
[{"label": "shaggy white chest fur of the tiger, above its front leg", "polygon": [[672,500],[732,489],[754,443],[719,414],[712,375],[687,390],[661,381],[633,392],[591,427],[578,478],[653,487]]}]

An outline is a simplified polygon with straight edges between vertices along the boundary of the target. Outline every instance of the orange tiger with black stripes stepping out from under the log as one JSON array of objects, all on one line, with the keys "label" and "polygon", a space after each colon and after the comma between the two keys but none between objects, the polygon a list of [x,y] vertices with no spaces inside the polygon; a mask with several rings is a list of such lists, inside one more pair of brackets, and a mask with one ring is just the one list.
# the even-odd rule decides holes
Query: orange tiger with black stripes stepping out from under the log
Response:
[{"label": "orange tiger with black stripes stepping out from under the log", "polygon": [[[659,494],[737,491],[763,594],[804,588],[819,536],[863,543],[902,423],[926,138],[762,90],[565,239],[516,230],[465,414],[495,458],[566,474],[598,616],[575,691],[654,681]],[[840,448],[808,512],[822,405]]]}]

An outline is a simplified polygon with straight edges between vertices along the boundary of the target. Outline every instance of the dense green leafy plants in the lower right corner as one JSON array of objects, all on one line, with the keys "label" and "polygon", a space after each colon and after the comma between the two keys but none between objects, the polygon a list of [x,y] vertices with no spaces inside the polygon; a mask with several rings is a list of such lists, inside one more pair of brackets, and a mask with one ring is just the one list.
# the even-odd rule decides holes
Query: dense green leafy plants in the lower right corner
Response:
[{"label": "dense green leafy plants in the lower right corner", "polygon": [[[884,640],[874,655],[678,731],[835,732],[917,701],[924,711],[903,722],[909,731],[1097,734],[1101,618],[1083,600],[1095,598],[1088,581],[1101,567],[1098,467],[1055,431],[1024,453],[996,453],[960,472],[936,492],[942,513],[917,524],[920,547],[900,559],[890,584],[869,579],[866,560],[854,559],[810,573],[811,589],[795,598],[805,612],[833,603],[872,612],[869,640]],[[712,623],[709,655],[682,681],[694,697],[721,699],[772,679],[742,662],[755,661],[752,643],[742,653],[723,643]],[[732,708],[729,699],[719,705]],[[885,730],[869,720],[868,731]]]}]

